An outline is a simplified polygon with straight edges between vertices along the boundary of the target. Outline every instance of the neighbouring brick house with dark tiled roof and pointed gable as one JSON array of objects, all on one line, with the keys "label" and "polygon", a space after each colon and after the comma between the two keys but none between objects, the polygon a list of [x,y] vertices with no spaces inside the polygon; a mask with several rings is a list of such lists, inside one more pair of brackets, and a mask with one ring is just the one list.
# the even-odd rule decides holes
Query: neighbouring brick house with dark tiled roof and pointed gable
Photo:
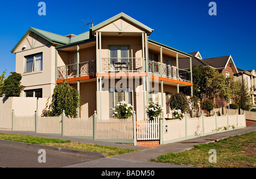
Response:
[{"label": "neighbouring brick house with dark tiled roof and pointed gable", "polygon": [[[200,52],[188,53],[192,55],[192,65],[200,66],[204,65],[205,67],[212,67],[217,70],[220,74],[223,74],[225,77],[234,76],[238,74],[237,67],[233,61],[232,56],[224,56],[224,57],[214,57],[214,58],[202,58]],[[185,61],[185,59],[179,60],[179,68],[180,69],[188,69],[189,63]],[[224,101],[224,99],[214,99],[215,107],[227,106],[228,104]],[[231,101],[230,101],[231,102]]]}]

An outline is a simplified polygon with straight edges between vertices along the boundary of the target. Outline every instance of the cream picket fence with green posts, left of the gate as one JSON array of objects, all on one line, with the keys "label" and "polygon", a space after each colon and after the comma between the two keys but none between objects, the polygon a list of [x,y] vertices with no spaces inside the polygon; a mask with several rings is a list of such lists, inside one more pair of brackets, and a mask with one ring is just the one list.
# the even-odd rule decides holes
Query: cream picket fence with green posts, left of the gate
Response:
[{"label": "cream picket fence with green posts, left of the gate", "polygon": [[89,139],[134,140],[134,117],[101,120],[89,118],[16,116],[13,112],[13,131],[35,131],[42,134],[61,134]]}]

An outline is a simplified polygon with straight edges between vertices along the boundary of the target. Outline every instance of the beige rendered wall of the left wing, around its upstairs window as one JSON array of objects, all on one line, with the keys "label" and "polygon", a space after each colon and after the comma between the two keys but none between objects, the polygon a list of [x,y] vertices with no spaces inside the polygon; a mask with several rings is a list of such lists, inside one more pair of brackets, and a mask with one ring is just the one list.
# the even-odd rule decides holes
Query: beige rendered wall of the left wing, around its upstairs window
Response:
[{"label": "beige rendered wall of the left wing, around its upstairs window", "polygon": [[[26,86],[24,90],[42,88],[43,97],[48,98],[55,87],[55,47],[48,45],[49,42],[41,40],[40,37],[36,37],[35,35],[34,37],[31,36],[32,35],[27,35],[15,50],[16,73],[22,74],[21,84]],[[34,48],[30,48],[28,41],[30,41],[30,44],[33,42]],[[23,45],[27,45],[27,48],[23,51],[19,51]],[[26,65],[25,57],[37,53],[43,53],[43,70],[24,73]],[[24,92],[22,92],[21,96],[24,96]]]}]

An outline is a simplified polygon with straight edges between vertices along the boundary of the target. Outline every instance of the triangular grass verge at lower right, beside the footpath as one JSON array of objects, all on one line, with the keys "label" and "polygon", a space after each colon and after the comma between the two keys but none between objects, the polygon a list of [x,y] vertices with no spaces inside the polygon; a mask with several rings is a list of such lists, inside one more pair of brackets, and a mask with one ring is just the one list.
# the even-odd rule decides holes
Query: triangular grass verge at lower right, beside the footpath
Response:
[{"label": "triangular grass verge at lower right, beside the footpath", "polygon": [[[189,151],[168,153],[151,161],[191,167],[254,168],[256,167],[256,131],[229,137],[218,142],[199,144]],[[209,150],[217,152],[216,163],[209,163]]]}]

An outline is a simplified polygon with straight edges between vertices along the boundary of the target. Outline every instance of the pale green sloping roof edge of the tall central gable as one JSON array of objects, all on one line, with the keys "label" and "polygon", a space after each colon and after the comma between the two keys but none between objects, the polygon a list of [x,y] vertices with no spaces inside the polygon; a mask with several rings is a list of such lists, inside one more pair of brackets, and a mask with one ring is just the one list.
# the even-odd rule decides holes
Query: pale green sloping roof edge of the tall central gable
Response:
[{"label": "pale green sloping roof edge of the tall central gable", "polygon": [[117,19],[120,19],[120,18],[123,18],[123,19],[126,19],[126,20],[129,20],[130,22],[132,22],[133,24],[135,25],[138,25],[139,27],[141,27],[142,29],[146,30],[148,33],[152,33],[154,31],[154,29],[151,29],[149,27],[147,27],[146,25],[138,22],[138,20],[135,20],[133,18],[131,18],[129,15],[126,15],[125,13],[121,12],[120,14],[118,15],[115,15],[113,16],[112,18],[108,19],[108,20],[105,20],[104,22],[100,23],[100,24],[97,24],[95,25],[94,27],[90,28],[92,29],[92,31],[97,31],[98,29],[104,27],[105,25],[108,25],[112,22],[114,22],[115,20]]}]

